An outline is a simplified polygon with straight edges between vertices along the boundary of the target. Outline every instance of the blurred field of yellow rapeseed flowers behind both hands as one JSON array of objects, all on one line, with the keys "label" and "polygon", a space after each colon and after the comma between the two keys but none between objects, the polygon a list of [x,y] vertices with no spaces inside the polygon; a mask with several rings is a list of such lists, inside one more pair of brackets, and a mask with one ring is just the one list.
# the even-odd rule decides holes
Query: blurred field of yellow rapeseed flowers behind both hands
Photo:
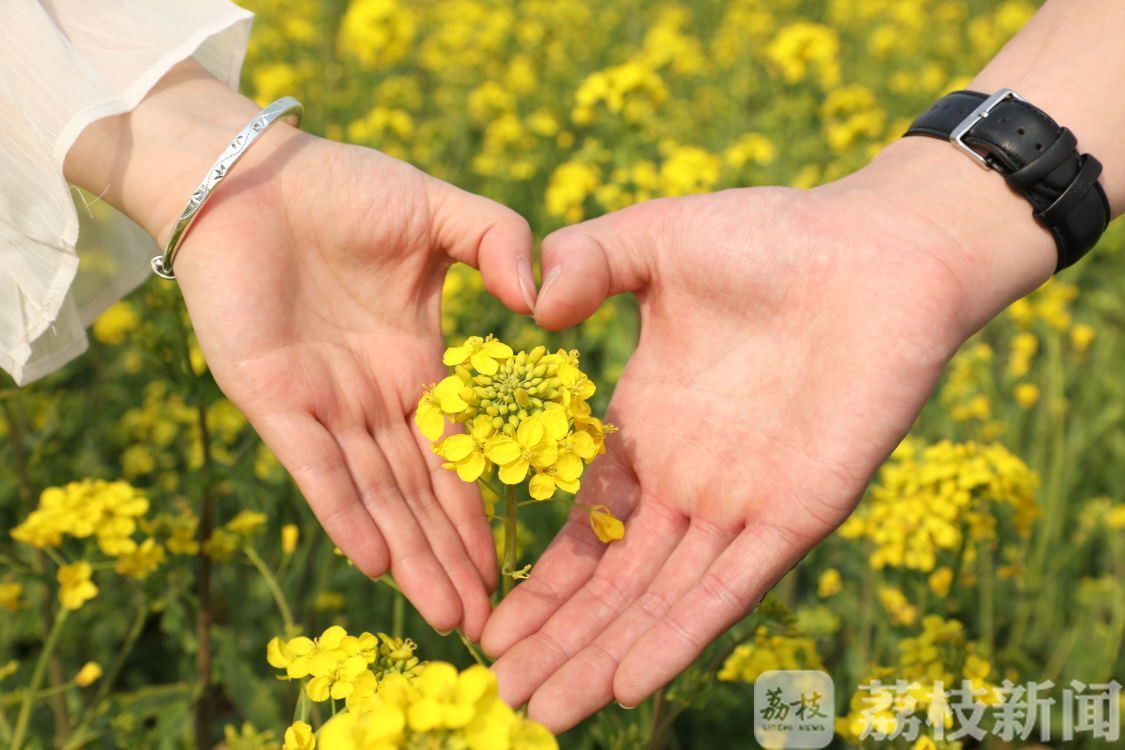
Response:
[{"label": "blurred field of yellow rapeseed flowers behind both hands", "polygon": [[[1036,9],[243,4],[258,13],[244,73],[256,100],[298,96],[308,129],[505,202],[539,236],[659,196],[810,188],[846,174],[964,85]],[[921,695],[966,679],[994,705],[1005,679],[1122,678],[1123,244],[1112,227],[1088,260],[970,341],[837,534],[656,699],[608,708],[561,747],[756,747],[749,684],[771,669],[832,675],[840,747],[922,749],[961,743],[930,739],[925,724],[917,741],[862,735],[908,715],[936,712],[942,723],[943,707],[888,696],[871,711],[864,680],[903,679]],[[603,414],[638,319],[631,299],[614,299],[584,325],[546,334],[458,266],[443,326],[454,344],[492,333],[514,350],[580,349]],[[360,721],[369,744],[354,747],[554,747],[505,713],[456,634],[433,633],[390,581],[366,579],[334,552],[209,378],[174,286],[151,282],[114,305],[93,338],[86,356],[33,387],[0,383],[0,526],[10,530],[0,540],[0,744],[307,749],[338,703],[389,679],[384,713],[368,715],[384,723]],[[533,564],[566,510],[544,503],[521,515],[520,566]],[[314,644],[303,634],[324,633],[323,643],[345,630],[362,632],[346,636],[362,648],[297,668],[306,689],[276,679],[276,668],[291,677],[308,656],[297,653]],[[1056,712],[1056,737],[1060,721]],[[407,723],[386,734],[396,722]],[[1065,747],[1106,743],[1079,735]]]}]

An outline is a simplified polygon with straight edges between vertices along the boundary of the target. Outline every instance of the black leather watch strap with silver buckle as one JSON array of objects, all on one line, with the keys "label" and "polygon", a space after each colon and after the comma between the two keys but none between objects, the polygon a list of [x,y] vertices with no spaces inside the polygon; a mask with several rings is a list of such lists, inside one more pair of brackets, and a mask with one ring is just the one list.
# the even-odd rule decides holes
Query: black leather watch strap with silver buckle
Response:
[{"label": "black leather watch strap with silver buckle", "polygon": [[992,97],[954,91],[915,120],[906,135],[951,141],[1002,174],[1054,236],[1055,271],[1082,257],[1109,225],[1109,204],[1098,183],[1101,162],[1080,154],[1073,133],[1012,91]]}]

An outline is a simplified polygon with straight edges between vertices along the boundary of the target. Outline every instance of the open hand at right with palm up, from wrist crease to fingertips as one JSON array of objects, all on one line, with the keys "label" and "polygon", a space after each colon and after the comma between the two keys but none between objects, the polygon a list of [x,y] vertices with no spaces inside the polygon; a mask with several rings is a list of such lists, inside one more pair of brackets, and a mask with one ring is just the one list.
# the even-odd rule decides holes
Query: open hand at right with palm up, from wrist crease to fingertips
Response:
[{"label": "open hand at right with palm up, from wrist crease to fingertips", "polygon": [[628,522],[605,549],[576,514],[489,621],[510,702],[530,698],[554,729],[613,697],[637,704],[855,506],[955,345],[934,342],[962,325],[926,243],[865,226],[862,209],[730,191],[544,243],[544,266],[567,263],[537,308],[549,327],[604,291],[640,300],[640,342],[610,405],[621,433],[584,482]]}]

